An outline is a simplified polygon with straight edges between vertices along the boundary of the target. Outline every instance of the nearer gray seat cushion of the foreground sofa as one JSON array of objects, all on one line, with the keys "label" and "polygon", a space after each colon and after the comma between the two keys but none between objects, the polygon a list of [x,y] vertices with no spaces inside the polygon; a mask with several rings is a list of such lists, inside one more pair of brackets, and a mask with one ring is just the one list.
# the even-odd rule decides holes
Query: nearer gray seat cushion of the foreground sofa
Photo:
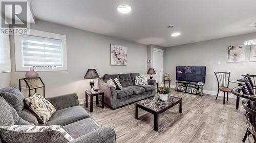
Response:
[{"label": "nearer gray seat cushion of the foreground sofa", "polygon": [[86,118],[63,126],[63,129],[65,129],[73,138],[78,138],[98,128],[100,128],[100,126],[92,118]]}]

